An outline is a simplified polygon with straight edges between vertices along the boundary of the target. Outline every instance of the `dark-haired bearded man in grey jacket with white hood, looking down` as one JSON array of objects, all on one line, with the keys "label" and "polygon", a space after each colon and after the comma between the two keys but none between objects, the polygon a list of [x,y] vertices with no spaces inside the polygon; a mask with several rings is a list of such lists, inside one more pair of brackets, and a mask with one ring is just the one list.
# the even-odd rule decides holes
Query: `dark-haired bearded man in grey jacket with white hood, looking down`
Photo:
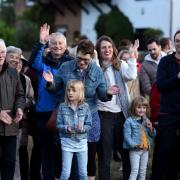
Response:
[{"label": "dark-haired bearded man in grey jacket with white hood, looking down", "polygon": [[157,39],[150,39],[147,42],[147,54],[141,65],[140,86],[144,95],[150,95],[152,84],[156,81],[157,66],[160,59],[166,54],[161,51],[160,43]]}]

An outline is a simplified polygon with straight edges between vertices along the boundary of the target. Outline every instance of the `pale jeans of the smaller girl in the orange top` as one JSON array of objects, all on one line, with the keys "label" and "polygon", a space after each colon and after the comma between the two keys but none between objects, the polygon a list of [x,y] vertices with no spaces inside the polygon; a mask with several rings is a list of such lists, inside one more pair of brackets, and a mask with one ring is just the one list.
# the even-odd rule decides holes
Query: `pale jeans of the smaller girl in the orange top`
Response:
[{"label": "pale jeans of the smaller girl in the orange top", "polygon": [[131,174],[129,180],[136,180],[139,174],[139,180],[146,179],[146,169],[148,163],[147,150],[129,151],[129,159],[131,164]]}]

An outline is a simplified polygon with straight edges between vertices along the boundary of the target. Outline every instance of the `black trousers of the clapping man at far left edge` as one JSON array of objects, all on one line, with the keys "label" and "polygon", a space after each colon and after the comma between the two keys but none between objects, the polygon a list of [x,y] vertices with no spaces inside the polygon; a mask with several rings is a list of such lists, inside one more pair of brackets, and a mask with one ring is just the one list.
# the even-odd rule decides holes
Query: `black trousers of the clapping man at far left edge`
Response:
[{"label": "black trousers of the clapping man at far left edge", "polygon": [[16,136],[0,136],[1,180],[13,180],[16,163]]}]

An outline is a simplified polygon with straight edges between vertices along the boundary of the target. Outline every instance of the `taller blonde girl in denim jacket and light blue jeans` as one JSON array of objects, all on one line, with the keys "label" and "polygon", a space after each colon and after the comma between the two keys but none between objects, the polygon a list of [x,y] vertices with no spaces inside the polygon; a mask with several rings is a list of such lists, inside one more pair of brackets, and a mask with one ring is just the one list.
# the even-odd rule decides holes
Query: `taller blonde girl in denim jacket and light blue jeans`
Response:
[{"label": "taller blonde girl in denim jacket and light blue jeans", "polygon": [[58,109],[56,127],[62,148],[62,173],[60,180],[68,180],[73,155],[78,161],[79,179],[87,180],[87,132],[92,120],[88,104],[84,103],[84,86],[81,81],[68,82],[65,102]]}]

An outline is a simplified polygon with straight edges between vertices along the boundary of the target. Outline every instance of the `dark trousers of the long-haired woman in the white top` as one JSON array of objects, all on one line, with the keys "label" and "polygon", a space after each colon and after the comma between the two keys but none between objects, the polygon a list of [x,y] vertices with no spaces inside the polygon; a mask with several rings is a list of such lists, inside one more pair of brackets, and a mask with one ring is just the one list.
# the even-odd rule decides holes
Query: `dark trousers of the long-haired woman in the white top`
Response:
[{"label": "dark trousers of the long-haired woman in the white top", "polygon": [[110,163],[112,159],[113,142],[122,155],[123,176],[128,180],[130,175],[130,162],[128,152],[123,150],[123,113],[111,113],[99,111],[101,120],[101,136],[98,144],[99,179],[110,180]]}]

